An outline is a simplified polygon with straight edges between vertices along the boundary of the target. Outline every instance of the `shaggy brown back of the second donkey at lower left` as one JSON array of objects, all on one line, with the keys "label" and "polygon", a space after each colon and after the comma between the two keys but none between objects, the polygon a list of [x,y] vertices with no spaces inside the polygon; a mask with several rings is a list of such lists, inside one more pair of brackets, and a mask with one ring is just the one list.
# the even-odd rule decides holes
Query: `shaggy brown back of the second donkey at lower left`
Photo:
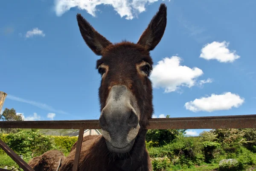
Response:
[{"label": "shaggy brown back of the second donkey at lower left", "polygon": [[65,158],[61,151],[51,150],[41,156],[34,157],[28,165],[35,171],[58,171]]}]

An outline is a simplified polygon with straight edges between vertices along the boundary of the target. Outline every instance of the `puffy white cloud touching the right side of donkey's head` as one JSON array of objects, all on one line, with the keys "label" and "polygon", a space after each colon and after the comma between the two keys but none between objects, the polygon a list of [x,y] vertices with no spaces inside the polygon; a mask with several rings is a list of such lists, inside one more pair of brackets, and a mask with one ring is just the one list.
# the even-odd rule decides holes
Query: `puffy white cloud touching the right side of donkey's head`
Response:
[{"label": "puffy white cloud touching the right side of donkey's head", "polygon": [[204,72],[197,67],[182,66],[180,62],[181,58],[178,56],[166,57],[159,61],[150,76],[153,87],[163,87],[165,93],[170,93],[179,90],[181,86],[194,86],[196,79]]}]

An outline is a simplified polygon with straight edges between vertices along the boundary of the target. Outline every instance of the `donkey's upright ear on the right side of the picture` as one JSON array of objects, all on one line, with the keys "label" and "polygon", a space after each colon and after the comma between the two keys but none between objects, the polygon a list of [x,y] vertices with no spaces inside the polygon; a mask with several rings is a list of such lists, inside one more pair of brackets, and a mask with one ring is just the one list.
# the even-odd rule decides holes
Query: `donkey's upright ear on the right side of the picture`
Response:
[{"label": "donkey's upright ear on the right side of the picture", "polygon": [[153,50],[161,41],[167,23],[167,7],[161,3],[157,14],[154,15],[147,29],[140,36],[137,44],[144,46],[148,51]]}]

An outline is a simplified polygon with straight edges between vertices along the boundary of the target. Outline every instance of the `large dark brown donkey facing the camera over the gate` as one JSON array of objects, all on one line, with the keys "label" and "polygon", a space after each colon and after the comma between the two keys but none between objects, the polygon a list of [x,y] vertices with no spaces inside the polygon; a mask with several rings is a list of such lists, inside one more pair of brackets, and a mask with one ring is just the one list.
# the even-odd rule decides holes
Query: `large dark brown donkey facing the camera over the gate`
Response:
[{"label": "large dark brown donkey facing the camera over the gate", "polygon": [[[152,171],[145,147],[145,128],[154,111],[149,79],[153,61],[149,52],[163,37],[166,17],[167,7],[162,3],[137,43],[113,44],[81,14],[76,15],[85,43],[102,56],[96,62],[102,77],[99,87],[102,136],[83,141],[79,171]],[[59,171],[72,170],[75,153],[75,150],[70,152]]]}]

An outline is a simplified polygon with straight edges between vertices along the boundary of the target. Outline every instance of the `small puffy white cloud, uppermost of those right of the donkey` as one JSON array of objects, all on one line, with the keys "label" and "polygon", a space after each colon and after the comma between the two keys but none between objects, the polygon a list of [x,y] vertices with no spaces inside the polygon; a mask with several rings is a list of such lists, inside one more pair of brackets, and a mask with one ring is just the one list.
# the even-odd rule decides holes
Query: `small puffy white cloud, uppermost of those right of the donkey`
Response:
[{"label": "small puffy white cloud, uppermost of those right of the donkey", "polygon": [[227,49],[229,43],[226,41],[207,43],[202,49],[200,58],[206,60],[216,59],[219,62],[233,62],[240,58],[236,51]]}]

